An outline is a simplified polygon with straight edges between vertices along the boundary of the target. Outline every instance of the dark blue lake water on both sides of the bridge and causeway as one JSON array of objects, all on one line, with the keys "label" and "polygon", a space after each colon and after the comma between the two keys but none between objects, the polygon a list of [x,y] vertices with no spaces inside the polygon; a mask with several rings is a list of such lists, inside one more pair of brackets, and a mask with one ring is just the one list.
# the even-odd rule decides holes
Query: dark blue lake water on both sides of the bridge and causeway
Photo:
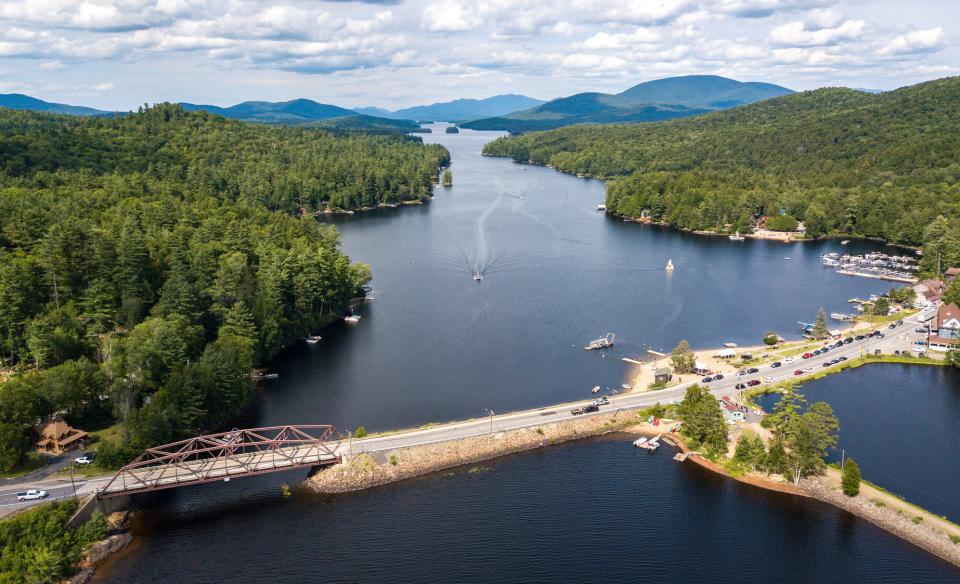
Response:
[{"label": "dark blue lake water on both sides of the bridge and causeway", "polygon": [[[596,211],[603,184],[480,156],[443,133],[454,186],[423,206],[332,220],[373,267],[357,325],[271,364],[250,424],[395,428],[569,401],[631,377],[649,348],[786,337],[821,306],[891,287],[827,251],[871,242],[732,242]],[[789,258],[789,259],[787,259]],[[676,270],[663,268],[672,260]],[[475,281],[473,272],[484,274]],[[581,347],[607,332],[607,352]],[[940,560],[828,506],[596,440],[369,492],[280,495],[304,473],[151,496],[99,581],[944,581]]]}]

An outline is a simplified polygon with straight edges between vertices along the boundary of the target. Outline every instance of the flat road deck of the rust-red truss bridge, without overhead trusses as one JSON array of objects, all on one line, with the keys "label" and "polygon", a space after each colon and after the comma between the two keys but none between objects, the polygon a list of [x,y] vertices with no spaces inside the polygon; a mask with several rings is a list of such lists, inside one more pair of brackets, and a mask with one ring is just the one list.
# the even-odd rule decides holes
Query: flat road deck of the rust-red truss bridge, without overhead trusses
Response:
[{"label": "flat road deck of the rust-red truss bridge, without overhead trusses", "polygon": [[229,480],[295,468],[335,464],[340,457],[331,454],[336,444],[303,444],[261,452],[193,460],[176,465],[144,466],[121,470],[98,496],[116,497],[190,484]]}]

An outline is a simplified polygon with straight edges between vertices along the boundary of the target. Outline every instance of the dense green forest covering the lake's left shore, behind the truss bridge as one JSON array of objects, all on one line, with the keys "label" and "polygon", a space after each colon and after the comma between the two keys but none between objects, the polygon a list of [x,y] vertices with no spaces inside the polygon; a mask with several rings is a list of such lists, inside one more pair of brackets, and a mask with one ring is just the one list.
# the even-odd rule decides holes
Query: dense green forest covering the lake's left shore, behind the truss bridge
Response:
[{"label": "dense green forest covering the lake's left shore, behind the truss bridge", "polygon": [[121,424],[105,466],[237,416],[251,368],[370,279],[312,212],[428,196],[448,160],[417,139],[172,105],[0,111],[0,470],[56,414]]}]

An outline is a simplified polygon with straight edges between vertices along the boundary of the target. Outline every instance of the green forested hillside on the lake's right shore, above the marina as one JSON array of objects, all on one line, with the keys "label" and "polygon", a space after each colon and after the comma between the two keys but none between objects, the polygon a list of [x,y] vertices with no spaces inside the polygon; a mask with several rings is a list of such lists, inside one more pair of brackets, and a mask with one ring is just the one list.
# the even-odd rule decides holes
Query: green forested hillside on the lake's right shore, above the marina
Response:
[{"label": "green forested hillside on the lake's right shore, above the marina", "polygon": [[814,237],[927,244],[944,251],[944,263],[960,262],[956,77],[879,95],[821,89],[682,120],[505,137],[484,153],[611,178],[607,209],[625,217],[733,231],[789,214]]}]

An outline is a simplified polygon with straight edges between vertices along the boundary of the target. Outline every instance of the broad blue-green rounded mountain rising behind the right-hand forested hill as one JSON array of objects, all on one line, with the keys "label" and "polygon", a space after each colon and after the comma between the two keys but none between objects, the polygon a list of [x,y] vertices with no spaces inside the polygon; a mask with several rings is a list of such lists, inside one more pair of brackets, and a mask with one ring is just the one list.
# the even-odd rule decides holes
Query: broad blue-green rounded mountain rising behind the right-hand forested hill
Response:
[{"label": "broad blue-green rounded mountain rising behind the right-hand forested hill", "polygon": [[572,124],[652,122],[728,109],[793,93],[770,83],[743,83],[716,75],[668,77],[624,92],[578,93],[523,111],[460,124],[514,134]]}]

